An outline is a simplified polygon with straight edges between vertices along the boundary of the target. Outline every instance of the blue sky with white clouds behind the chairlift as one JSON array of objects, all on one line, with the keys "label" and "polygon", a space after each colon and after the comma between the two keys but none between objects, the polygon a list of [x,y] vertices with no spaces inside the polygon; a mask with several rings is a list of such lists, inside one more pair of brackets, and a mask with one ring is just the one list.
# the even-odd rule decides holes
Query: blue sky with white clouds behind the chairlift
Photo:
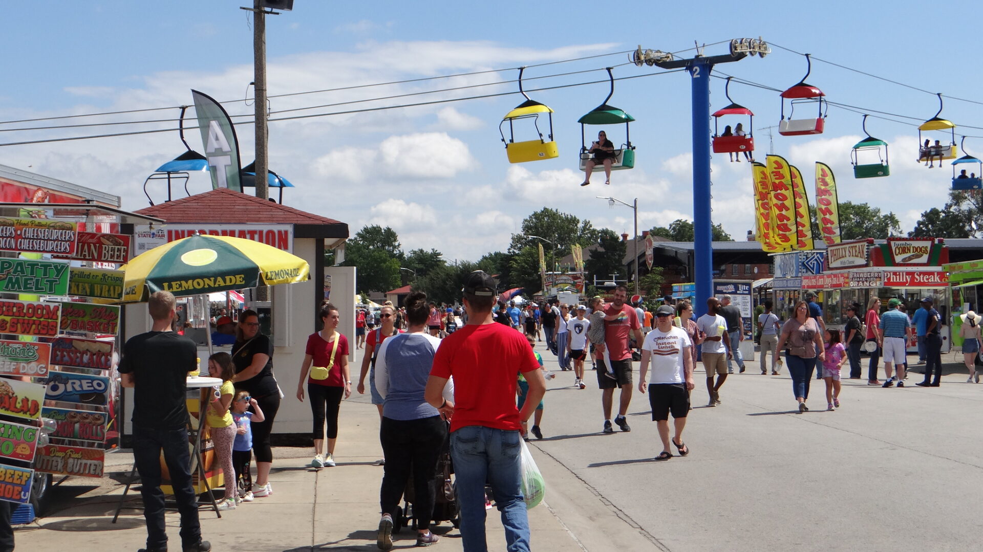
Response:
[{"label": "blue sky with white clouds behind the chairlift", "polygon": [[[7,79],[0,87],[0,121],[177,106],[191,102],[192,87],[220,100],[244,98],[252,81],[250,14],[239,9],[244,3],[4,2]],[[983,101],[983,95],[977,93],[980,77],[971,65],[978,46],[969,26],[980,19],[977,3],[954,2],[940,13],[926,12],[924,2],[704,2],[698,9],[692,6],[612,4],[599,9],[596,2],[296,0],[293,12],[267,18],[269,93],[517,68],[631,50],[638,45],[679,51],[691,48],[694,39],[712,44],[760,35],[773,44],[772,55],[724,64],[715,74],[781,89],[798,83],[805,73],[805,60],[778,47],[782,46],[930,92]],[[926,19],[939,18],[945,22],[944,31],[923,25]],[[725,49],[725,44],[708,46],[706,53],[719,54]],[[693,51],[680,55],[691,57]],[[527,78],[598,71],[531,81],[527,88],[602,80],[604,67],[626,61],[627,55],[620,54],[530,68]],[[604,83],[531,93],[555,110],[558,159],[521,165],[506,162],[497,125],[505,112],[522,101],[514,93],[271,122],[270,166],[298,187],[285,193],[285,203],[345,221],[353,232],[367,223],[390,225],[405,247],[438,248],[450,259],[475,259],[506,248],[522,218],[543,206],[630,233],[630,209],[608,209],[595,195],[611,194],[628,202],[638,197],[640,229],[667,225],[692,213],[690,90],[685,74],[657,75],[662,73],[633,65],[614,69],[617,78],[647,76],[617,83],[609,102],[637,120],[631,136],[638,147],[636,168],[615,173],[610,187],[596,176],[594,185],[582,189],[577,185],[583,175],[576,170],[580,146],[576,120],[604,100]],[[270,107],[275,112],[494,83],[513,80],[516,74],[280,97],[273,98]],[[813,62],[808,82],[822,88],[831,101],[862,110],[921,120],[938,110],[938,100],[930,93],[820,61]],[[502,91],[516,91],[515,84],[428,94],[413,101]],[[755,112],[761,157],[769,147],[765,127],[779,121],[778,92],[732,84],[730,95]],[[302,113],[406,101],[382,100]],[[712,110],[727,103],[723,80],[712,82],[711,101]],[[957,134],[983,137],[983,130],[966,128],[983,128],[979,107],[947,99],[942,116],[959,126]],[[242,101],[226,108],[233,115],[252,112]],[[177,109],[171,109],[90,122],[176,116]],[[892,118],[915,125],[920,122]],[[947,165],[929,170],[915,162],[914,127],[869,119],[868,131],[891,144],[893,174],[855,181],[849,148],[862,138],[860,122],[859,114],[831,108],[825,134],[786,138],[774,133],[775,151],[802,170],[807,185],[811,185],[814,161],[830,164],[837,172],[841,200],[866,201],[892,210],[904,230],[910,230],[921,211],[943,205],[951,169]],[[29,126],[39,125],[0,123],[0,131]],[[173,126],[171,121],[108,129],[125,132]],[[106,129],[0,132],[0,143],[103,134]],[[623,139],[620,129],[606,130],[610,138]],[[240,126],[238,133],[244,162],[249,162],[253,159],[252,126]],[[194,148],[202,149],[197,131],[188,138]],[[983,155],[983,138],[967,138],[966,147],[970,153]],[[0,163],[117,193],[123,196],[125,208],[138,209],[147,204],[142,191],[146,176],[181,151],[177,134],[167,133],[0,146]],[[717,155],[713,168],[714,220],[742,239],[753,224],[749,167]],[[196,175],[190,189],[201,192],[209,186],[206,178]],[[155,199],[162,193],[151,189]]]}]

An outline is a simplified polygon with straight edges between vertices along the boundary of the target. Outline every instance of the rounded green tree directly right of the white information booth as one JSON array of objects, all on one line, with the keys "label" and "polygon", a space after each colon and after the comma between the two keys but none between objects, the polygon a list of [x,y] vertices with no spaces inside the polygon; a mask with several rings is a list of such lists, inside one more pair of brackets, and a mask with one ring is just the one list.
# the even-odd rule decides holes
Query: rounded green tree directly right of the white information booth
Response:
[{"label": "rounded green tree directly right of the white information booth", "polygon": [[342,265],[356,268],[356,289],[360,293],[387,292],[402,285],[402,260],[396,232],[388,226],[373,225],[348,240]]}]

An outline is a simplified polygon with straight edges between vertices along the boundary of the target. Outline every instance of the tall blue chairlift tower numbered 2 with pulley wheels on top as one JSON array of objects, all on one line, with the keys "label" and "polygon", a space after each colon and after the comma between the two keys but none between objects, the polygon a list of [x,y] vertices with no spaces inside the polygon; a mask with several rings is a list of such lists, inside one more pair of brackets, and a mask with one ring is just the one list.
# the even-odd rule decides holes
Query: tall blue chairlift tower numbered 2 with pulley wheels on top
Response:
[{"label": "tall blue chairlift tower numbered 2 with pulley wheels on top", "polygon": [[[705,57],[703,48],[691,59],[675,59],[661,50],[635,50],[636,66],[656,65],[662,69],[685,68],[690,75],[693,127],[693,255],[697,314],[707,311],[707,300],[714,295],[713,222],[710,211],[710,72],[714,65],[739,61],[751,55],[765,55],[772,49],[761,38],[735,38],[730,53]],[[636,262],[638,257],[636,256]]]}]

